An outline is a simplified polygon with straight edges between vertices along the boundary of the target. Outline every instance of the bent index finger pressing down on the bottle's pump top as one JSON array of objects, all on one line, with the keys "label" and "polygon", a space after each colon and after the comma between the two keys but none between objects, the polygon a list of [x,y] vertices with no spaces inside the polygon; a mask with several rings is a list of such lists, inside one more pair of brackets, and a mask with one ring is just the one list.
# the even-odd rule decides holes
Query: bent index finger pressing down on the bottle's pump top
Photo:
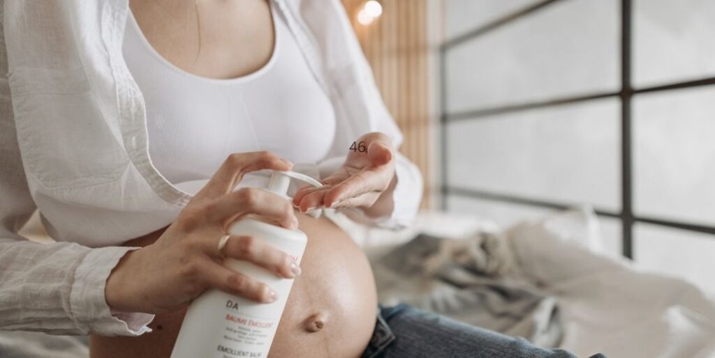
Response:
[{"label": "bent index finger pressing down on the bottle's pump top", "polygon": [[241,181],[244,173],[263,169],[290,170],[289,161],[270,152],[233,153],[202,188],[197,197],[215,199],[230,193]]}]

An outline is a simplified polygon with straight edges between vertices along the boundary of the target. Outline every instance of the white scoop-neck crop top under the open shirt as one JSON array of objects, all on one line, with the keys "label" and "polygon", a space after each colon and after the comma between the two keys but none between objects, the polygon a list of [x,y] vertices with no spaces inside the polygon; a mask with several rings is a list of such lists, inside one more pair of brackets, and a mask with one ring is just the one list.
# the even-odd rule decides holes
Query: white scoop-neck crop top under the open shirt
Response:
[{"label": "white scoop-neck crop top under the open shirt", "polygon": [[274,9],[270,60],[232,79],[174,66],[128,16],[122,51],[146,102],[149,155],[170,183],[208,179],[230,153],[270,150],[293,163],[317,163],[330,150],[332,105]]}]

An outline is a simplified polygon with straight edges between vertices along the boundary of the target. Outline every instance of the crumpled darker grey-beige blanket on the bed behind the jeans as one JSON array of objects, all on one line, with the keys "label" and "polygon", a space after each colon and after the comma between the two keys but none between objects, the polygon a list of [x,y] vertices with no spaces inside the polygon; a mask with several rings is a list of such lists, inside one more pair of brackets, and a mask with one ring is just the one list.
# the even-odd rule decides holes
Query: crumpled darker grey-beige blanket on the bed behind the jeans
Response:
[{"label": "crumpled darker grey-beige blanket on the bed behind the jeans", "polygon": [[372,261],[383,305],[408,303],[542,347],[561,342],[558,300],[523,278],[500,234],[418,235]]}]

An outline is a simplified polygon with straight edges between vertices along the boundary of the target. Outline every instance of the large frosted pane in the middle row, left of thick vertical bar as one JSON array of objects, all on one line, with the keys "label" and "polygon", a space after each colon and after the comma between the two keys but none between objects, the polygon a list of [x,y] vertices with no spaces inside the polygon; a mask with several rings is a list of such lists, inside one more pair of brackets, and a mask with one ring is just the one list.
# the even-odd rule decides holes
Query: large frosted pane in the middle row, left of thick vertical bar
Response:
[{"label": "large frosted pane in the middle row, left of thick vertical bar", "polygon": [[448,184],[620,208],[616,98],[448,124]]}]

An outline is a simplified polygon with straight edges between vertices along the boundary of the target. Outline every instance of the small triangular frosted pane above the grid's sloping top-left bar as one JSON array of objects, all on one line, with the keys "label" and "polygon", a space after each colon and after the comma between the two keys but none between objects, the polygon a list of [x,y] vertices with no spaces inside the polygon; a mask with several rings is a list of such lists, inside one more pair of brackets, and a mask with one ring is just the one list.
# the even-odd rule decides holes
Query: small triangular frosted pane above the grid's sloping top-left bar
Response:
[{"label": "small triangular frosted pane above the grid's sloping top-left bar", "polygon": [[539,0],[445,0],[447,38],[477,29],[538,2]]}]

